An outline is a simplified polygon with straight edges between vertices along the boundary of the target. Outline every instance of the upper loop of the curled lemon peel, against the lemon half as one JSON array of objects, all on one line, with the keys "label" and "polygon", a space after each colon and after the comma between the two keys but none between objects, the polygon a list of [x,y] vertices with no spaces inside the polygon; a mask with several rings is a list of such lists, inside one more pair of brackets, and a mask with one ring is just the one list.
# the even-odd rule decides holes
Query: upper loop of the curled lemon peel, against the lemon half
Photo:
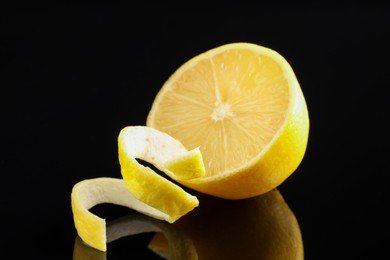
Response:
[{"label": "upper loop of the curled lemon peel, against the lemon half", "polygon": [[[195,196],[188,194],[172,181],[162,177],[153,169],[145,167],[136,159],[153,164],[173,179],[188,178],[188,168],[193,167],[192,176],[203,176],[203,161],[200,151],[187,151],[169,135],[144,126],[129,126],[122,129],[118,137],[119,162],[127,188],[134,197],[169,215],[174,222],[199,205]],[[179,165],[176,167],[175,165]],[[172,172],[166,167],[176,170]]]}]

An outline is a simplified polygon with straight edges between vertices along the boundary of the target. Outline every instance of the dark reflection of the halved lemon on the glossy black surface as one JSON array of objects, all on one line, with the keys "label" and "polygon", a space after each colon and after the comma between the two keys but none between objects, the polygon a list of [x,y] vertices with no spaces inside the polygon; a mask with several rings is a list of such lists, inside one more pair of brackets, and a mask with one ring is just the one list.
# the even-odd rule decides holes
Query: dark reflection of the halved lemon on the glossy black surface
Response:
[{"label": "dark reflection of the halved lemon on the glossy black surface", "polygon": [[278,190],[235,201],[197,197],[198,209],[174,225],[192,239],[199,259],[304,258],[299,224]]}]

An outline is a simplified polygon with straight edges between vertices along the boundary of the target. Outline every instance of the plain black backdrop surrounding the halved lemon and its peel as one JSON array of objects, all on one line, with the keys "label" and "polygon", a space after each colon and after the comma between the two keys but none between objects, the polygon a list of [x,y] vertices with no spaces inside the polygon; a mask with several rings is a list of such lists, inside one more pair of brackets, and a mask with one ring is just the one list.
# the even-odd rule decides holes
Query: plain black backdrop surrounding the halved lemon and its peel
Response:
[{"label": "plain black backdrop surrounding the halved lemon and its peel", "polygon": [[240,41],[282,54],[306,97],[307,152],[279,187],[305,258],[388,254],[388,4],[0,10],[2,255],[71,259],[73,185],[120,177],[119,131],[182,63]]}]

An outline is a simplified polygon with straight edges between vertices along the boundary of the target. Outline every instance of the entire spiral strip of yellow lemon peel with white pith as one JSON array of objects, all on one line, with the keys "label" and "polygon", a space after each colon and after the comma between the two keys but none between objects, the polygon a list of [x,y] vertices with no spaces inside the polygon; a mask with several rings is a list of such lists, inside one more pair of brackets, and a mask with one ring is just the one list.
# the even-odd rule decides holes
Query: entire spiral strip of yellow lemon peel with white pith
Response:
[{"label": "entire spiral strip of yellow lemon peel with white pith", "polygon": [[106,222],[89,211],[101,203],[134,209],[169,223],[199,205],[197,197],[137,161],[144,160],[175,180],[204,176],[198,148],[188,151],[171,136],[143,126],[125,127],[118,136],[123,179],[95,178],[78,182],[71,194],[74,223],[80,238],[106,251]]}]

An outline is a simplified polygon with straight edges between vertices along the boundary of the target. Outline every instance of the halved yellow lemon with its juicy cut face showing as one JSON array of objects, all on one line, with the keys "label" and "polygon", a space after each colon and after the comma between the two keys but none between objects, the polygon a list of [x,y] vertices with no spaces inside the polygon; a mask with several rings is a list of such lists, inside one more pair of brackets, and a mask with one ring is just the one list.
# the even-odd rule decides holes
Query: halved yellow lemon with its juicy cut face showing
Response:
[{"label": "halved yellow lemon with its juicy cut face showing", "polygon": [[309,116],[286,59],[252,43],[230,43],[195,56],[164,83],[146,125],[199,147],[205,176],[184,186],[225,199],[263,194],[301,163]]}]

